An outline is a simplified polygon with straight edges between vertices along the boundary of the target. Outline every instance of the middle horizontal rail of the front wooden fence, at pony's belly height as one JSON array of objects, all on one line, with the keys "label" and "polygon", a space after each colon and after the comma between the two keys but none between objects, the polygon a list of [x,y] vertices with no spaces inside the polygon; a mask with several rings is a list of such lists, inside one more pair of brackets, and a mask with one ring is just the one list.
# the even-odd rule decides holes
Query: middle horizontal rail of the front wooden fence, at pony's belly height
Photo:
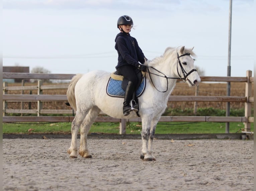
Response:
[{"label": "middle horizontal rail of the front wooden fence, at pony's belly height", "polygon": [[[3,100],[40,100],[40,101],[67,101],[67,95],[3,95]],[[171,95],[168,101],[220,101],[220,102],[246,102],[246,97],[239,96],[184,96]]]}]

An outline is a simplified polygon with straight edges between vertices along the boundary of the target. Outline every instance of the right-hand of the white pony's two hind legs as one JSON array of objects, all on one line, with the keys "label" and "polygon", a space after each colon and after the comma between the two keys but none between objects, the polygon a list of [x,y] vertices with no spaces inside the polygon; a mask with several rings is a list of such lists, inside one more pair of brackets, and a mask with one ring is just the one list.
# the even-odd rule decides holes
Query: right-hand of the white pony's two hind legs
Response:
[{"label": "right-hand of the white pony's two hind legs", "polygon": [[100,111],[101,110],[96,106],[91,108],[81,125],[81,128],[80,128],[81,140],[80,140],[79,154],[84,158],[92,158],[92,155],[87,147],[87,134],[94,120],[100,113]]}]

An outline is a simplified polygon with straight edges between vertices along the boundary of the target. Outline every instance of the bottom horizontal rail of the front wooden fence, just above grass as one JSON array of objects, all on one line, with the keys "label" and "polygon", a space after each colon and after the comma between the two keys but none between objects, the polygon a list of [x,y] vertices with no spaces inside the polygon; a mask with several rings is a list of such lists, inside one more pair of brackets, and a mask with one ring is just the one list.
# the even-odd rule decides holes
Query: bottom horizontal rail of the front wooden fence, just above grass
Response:
[{"label": "bottom horizontal rail of the front wooden fence, just above grass", "polygon": [[[3,122],[72,122],[73,119],[74,116],[3,116]],[[141,122],[141,118],[127,121]],[[94,122],[121,122],[121,119],[98,116]],[[162,116],[158,122],[246,122],[246,117]]]}]

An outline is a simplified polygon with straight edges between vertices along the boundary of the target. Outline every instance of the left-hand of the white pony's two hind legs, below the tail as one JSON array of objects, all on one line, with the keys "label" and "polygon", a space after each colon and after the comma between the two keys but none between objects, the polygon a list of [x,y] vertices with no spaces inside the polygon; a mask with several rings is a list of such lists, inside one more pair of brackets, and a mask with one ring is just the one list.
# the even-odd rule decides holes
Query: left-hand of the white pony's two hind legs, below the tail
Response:
[{"label": "left-hand of the white pony's two hind legs, below the tail", "polygon": [[72,121],[71,125],[71,146],[68,149],[68,153],[70,154],[70,158],[77,158],[77,133],[81,123],[85,118],[86,113],[77,112],[74,120]]}]

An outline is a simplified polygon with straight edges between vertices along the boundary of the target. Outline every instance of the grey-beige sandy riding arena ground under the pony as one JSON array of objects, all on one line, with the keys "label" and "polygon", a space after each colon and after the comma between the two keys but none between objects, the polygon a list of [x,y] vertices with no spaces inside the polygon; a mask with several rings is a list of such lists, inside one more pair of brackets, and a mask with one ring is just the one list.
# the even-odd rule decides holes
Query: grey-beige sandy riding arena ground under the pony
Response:
[{"label": "grey-beige sandy riding arena ground under the pony", "polygon": [[92,159],[70,143],[3,139],[3,190],[253,190],[253,140],[154,140],[150,162],[139,139],[89,139]]}]

